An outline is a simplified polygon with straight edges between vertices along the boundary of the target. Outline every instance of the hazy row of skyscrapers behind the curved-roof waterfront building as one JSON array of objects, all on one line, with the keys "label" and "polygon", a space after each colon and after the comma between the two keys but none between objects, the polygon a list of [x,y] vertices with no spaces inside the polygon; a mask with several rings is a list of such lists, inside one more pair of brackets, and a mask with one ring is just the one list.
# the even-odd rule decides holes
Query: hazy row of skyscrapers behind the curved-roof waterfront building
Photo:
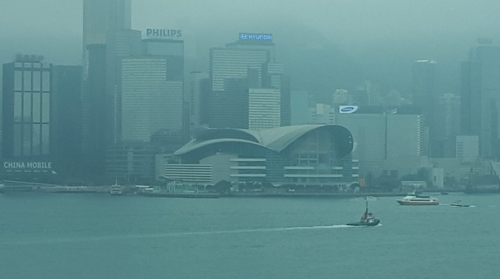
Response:
[{"label": "hazy row of skyscrapers behind the curved-roof waterfront building", "polygon": [[[240,33],[234,42],[210,48],[205,53],[209,70],[198,72],[184,66],[183,37],[160,36],[177,30],[131,29],[131,0],[84,0],[82,19],[81,66],[45,70],[44,63],[38,66],[40,61],[34,60],[4,64],[4,158],[47,155],[74,170],[80,165],[71,164],[70,157],[82,156],[80,172],[92,182],[112,176],[143,179],[150,173],[144,164],[151,165],[158,152],[175,152],[199,128],[260,130],[291,124],[291,78],[287,65],[276,58],[272,34]],[[369,79],[329,88],[331,99],[324,103],[305,92],[302,103],[294,104],[303,110],[295,113],[302,119],[294,120],[351,125],[354,140],[361,142],[355,154],[362,166],[371,164],[369,169],[380,169],[380,158],[398,154],[457,158],[456,144],[474,149],[475,139],[479,157],[500,157],[500,47],[483,42],[470,51],[461,64],[460,96],[438,92],[436,67],[430,59],[408,64],[410,92],[381,92],[379,80]],[[48,91],[38,88],[49,84],[43,78],[52,82]],[[404,112],[409,104],[419,110]],[[377,112],[367,112],[374,105]],[[73,143],[59,144],[64,131],[71,133]],[[367,139],[372,135],[376,147]]]}]

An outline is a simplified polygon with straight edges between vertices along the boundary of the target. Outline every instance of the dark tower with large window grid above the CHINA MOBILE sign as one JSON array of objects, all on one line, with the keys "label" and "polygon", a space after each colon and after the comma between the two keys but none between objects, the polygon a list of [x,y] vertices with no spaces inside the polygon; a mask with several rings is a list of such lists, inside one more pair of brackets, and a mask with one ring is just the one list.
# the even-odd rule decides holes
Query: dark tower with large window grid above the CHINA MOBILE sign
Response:
[{"label": "dark tower with large window grid above the CHINA MOBILE sign", "polygon": [[52,64],[16,55],[3,64],[2,150],[8,159],[50,159]]}]

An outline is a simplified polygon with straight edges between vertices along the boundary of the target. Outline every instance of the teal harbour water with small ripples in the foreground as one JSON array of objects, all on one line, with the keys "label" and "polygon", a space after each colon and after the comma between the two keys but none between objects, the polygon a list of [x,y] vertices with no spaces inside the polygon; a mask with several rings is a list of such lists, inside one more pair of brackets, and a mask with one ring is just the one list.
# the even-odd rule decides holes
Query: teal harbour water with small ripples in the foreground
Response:
[{"label": "teal harbour water with small ripples in the foreground", "polygon": [[[500,195],[0,194],[1,278],[500,278]],[[449,204],[460,199],[474,207]]]}]

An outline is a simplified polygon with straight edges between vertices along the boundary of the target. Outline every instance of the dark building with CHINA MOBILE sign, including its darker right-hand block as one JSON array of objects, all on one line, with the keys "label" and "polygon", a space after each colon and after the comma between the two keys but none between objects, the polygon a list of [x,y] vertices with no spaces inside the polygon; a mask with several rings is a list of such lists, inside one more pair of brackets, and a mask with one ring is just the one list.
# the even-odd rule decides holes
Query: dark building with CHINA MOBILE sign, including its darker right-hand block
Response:
[{"label": "dark building with CHINA MOBILE sign, including its darker right-hand block", "polygon": [[18,54],[3,64],[2,80],[2,178],[54,181],[52,174],[78,173],[81,66]]}]

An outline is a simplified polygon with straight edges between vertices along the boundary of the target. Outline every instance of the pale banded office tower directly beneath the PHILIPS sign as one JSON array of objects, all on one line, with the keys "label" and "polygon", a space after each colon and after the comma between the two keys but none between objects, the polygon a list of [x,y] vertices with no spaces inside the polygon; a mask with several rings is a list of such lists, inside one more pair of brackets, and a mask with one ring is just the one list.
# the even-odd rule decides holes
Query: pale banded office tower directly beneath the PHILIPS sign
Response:
[{"label": "pale banded office tower directly beneath the PHILIPS sign", "polygon": [[155,152],[182,144],[183,41],[147,38],[140,45],[140,54],[131,47],[116,56],[118,135],[106,155],[108,180],[154,180]]}]

